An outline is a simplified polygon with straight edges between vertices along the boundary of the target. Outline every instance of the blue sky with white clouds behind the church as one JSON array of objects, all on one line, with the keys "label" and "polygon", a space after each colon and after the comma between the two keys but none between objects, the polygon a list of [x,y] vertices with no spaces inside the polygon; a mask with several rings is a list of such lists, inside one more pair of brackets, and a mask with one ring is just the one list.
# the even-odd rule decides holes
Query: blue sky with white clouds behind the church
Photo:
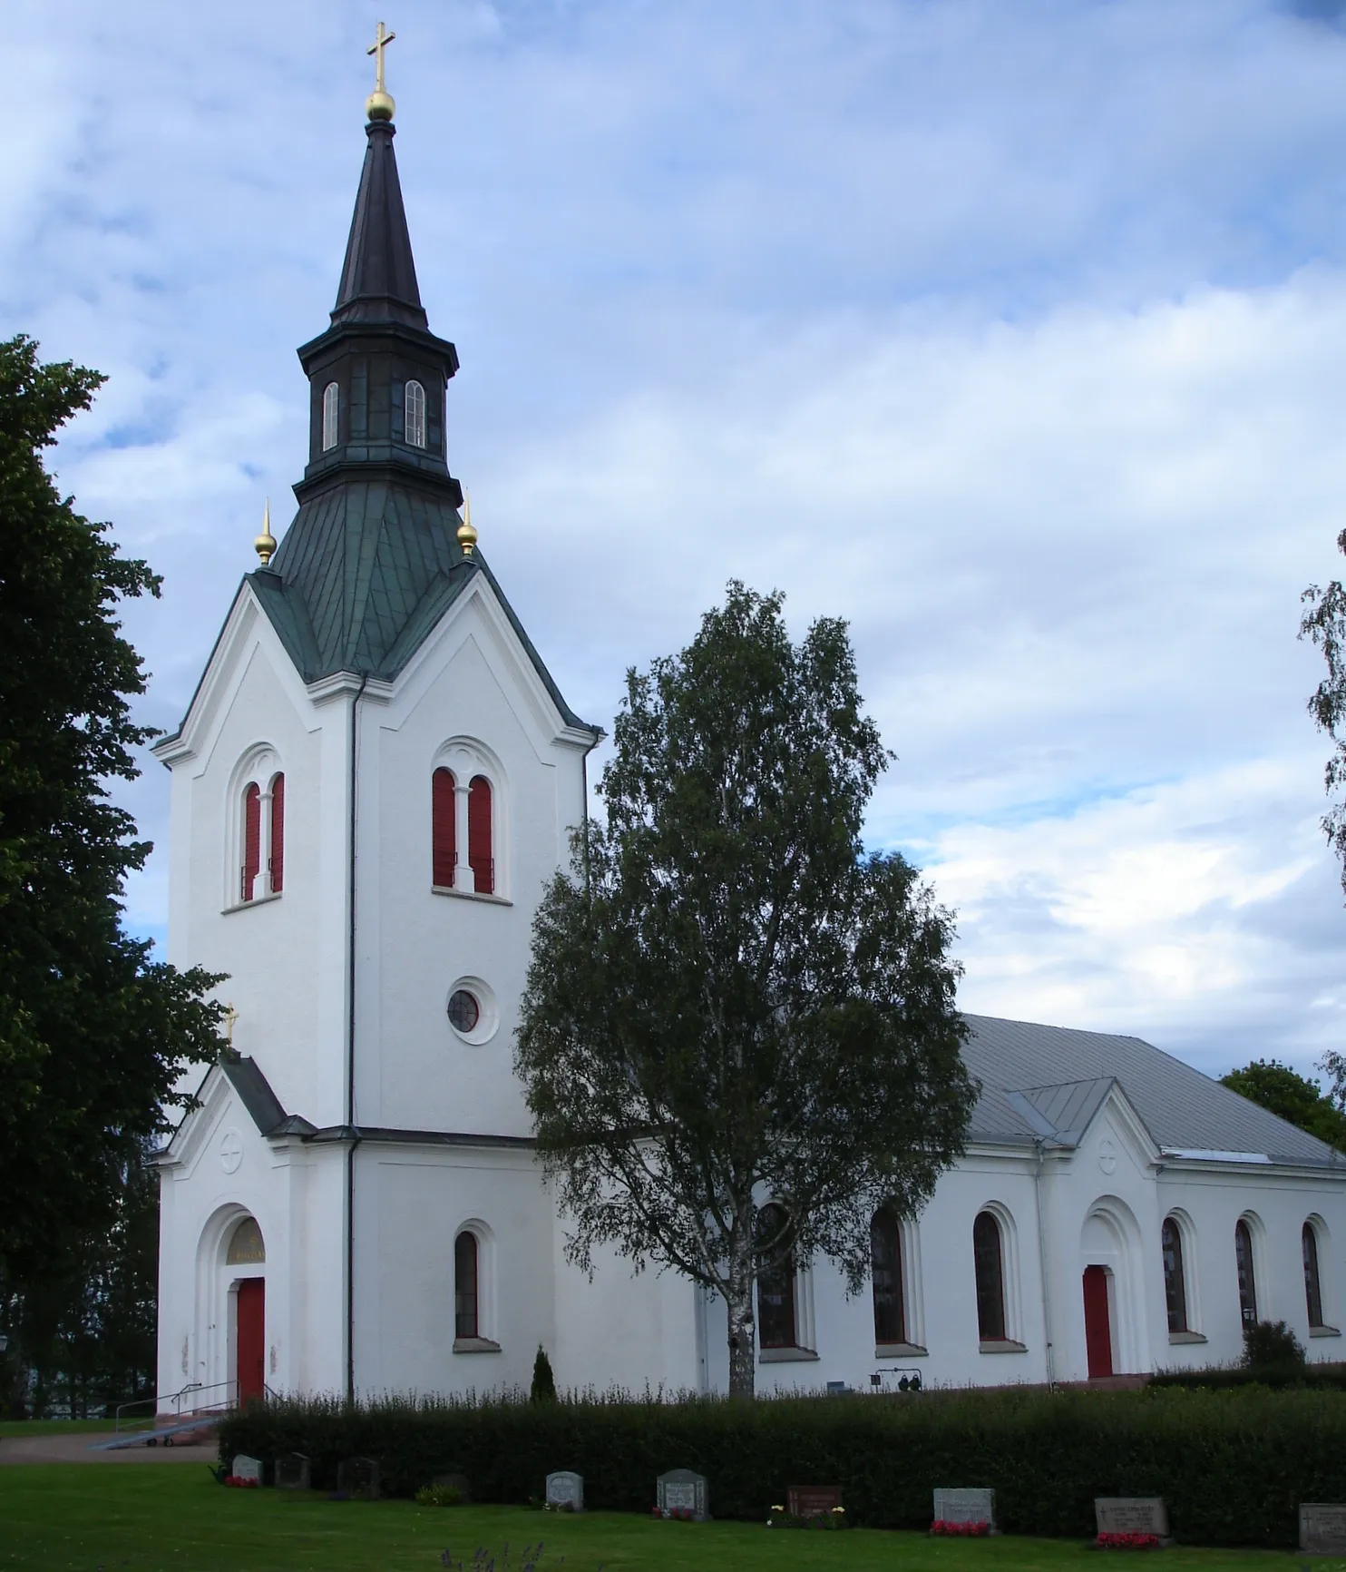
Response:
[{"label": "blue sky with white clouds behind the church", "polygon": [[[867,844],[966,1009],[1211,1074],[1346,1047],[1300,593],[1343,574],[1346,0],[396,0],[449,465],[570,704],[729,578],[850,623]],[[5,0],[0,335],[163,575],[171,729],[306,453],[375,8]],[[123,792],[157,850],[166,772]]]}]

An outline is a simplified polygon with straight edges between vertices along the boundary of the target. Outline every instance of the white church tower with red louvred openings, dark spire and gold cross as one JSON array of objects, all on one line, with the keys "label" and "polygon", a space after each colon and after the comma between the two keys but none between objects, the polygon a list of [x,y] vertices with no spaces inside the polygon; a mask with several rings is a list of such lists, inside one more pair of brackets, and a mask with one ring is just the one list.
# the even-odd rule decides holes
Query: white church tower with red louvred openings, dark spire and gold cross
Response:
[{"label": "white church tower with red louvred openings, dark spire and gold cross", "polygon": [[[390,36],[336,305],[298,351],[298,511],[280,544],[264,525],[155,748],[170,956],[226,973],[231,1006],[229,1052],[160,1160],[162,1407],[188,1387],[206,1409],[526,1383],[537,1346],[556,1353],[558,1295],[594,1360],[611,1347],[564,1264],[512,1069],[532,912],[602,733],[459,512],[459,360],[416,283]],[[689,1383],[688,1303],[672,1374]]]}]

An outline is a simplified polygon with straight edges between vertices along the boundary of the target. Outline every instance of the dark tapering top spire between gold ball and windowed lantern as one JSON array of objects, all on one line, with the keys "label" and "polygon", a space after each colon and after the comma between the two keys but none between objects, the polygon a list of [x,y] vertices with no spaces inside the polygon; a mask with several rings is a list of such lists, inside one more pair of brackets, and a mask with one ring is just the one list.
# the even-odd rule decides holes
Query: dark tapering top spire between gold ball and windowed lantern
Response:
[{"label": "dark tapering top spire between gold ball and windowed lantern", "polygon": [[364,135],[369,143],[331,321],[405,322],[424,329],[426,311],[416,288],[416,263],[393,152],[397,130],[391,121],[375,119],[364,127]]}]

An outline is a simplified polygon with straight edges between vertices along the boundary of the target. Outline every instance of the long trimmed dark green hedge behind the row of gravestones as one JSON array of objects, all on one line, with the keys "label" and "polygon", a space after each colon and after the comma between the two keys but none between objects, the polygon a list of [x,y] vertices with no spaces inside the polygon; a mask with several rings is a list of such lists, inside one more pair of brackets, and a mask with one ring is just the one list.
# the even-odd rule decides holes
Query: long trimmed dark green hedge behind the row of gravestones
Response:
[{"label": "long trimmed dark green hedge behind the row of gravestones", "polygon": [[377,1457],[411,1495],[466,1475],[474,1501],[525,1503],[575,1468],[592,1508],[649,1512],[655,1476],[696,1468],[716,1517],[765,1522],[790,1484],[840,1484],[851,1523],[928,1528],[936,1486],[994,1486],[1010,1533],[1092,1537],[1096,1495],[1162,1495],[1187,1544],[1294,1545],[1300,1501],[1346,1501],[1346,1402],[1330,1391],[927,1391],[675,1402],[625,1396],[254,1404],[220,1456],[305,1453],[331,1489]]}]

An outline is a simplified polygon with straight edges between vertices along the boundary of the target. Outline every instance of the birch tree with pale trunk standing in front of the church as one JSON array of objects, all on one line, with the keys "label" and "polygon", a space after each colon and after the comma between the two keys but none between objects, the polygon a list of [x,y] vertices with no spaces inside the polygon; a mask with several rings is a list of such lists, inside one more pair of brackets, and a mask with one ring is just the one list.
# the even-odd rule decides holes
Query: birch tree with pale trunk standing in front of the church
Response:
[{"label": "birch tree with pale trunk standing in front of the church", "polygon": [[572,1259],[719,1292],[751,1396],[755,1273],[823,1254],[858,1291],[873,1212],[914,1214],[961,1151],[952,916],[861,846],[889,756],[843,623],[792,645],[781,596],[730,583],[628,673],[614,744],[606,824],[534,921],[517,1067]]}]

